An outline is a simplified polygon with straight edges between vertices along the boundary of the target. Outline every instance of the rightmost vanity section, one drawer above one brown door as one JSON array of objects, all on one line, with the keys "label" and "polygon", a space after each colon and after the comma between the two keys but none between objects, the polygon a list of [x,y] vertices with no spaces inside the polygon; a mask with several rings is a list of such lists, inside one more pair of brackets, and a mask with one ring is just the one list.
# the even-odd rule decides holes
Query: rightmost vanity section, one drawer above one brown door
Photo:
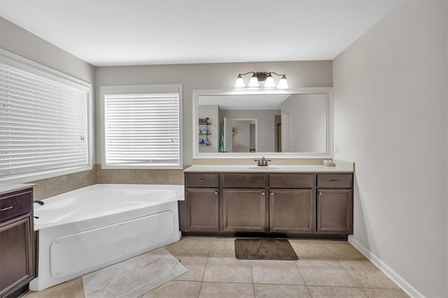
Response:
[{"label": "rightmost vanity section, one drawer above one brown door", "polygon": [[353,176],[317,176],[317,232],[353,233]]}]

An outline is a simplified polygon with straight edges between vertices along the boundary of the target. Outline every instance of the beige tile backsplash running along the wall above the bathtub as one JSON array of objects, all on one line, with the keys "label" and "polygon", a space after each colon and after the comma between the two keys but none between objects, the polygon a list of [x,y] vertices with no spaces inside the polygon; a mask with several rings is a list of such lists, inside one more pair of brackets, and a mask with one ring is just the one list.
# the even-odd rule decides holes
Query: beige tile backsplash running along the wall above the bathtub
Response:
[{"label": "beige tile backsplash running along the wall above the bathtub", "polygon": [[104,170],[95,164],[90,171],[37,180],[34,199],[46,199],[96,183],[183,184],[183,170]]}]

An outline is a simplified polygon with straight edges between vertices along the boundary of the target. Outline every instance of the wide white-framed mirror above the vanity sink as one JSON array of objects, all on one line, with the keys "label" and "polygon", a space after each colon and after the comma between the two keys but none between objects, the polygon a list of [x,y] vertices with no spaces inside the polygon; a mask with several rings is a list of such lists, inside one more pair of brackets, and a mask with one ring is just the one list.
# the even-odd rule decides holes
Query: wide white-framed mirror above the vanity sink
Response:
[{"label": "wide white-framed mirror above the vanity sink", "polygon": [[194,158],[332,157],[332,88],[193,90]]}]

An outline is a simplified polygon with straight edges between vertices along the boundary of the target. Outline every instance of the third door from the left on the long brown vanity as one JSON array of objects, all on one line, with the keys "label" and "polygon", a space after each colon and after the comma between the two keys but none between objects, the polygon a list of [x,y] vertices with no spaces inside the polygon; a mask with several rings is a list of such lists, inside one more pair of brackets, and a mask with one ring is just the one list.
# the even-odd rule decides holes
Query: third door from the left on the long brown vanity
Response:
[{"label": "third door from the left on the long brown vanity", "polygon": [[313,190],[271,190],[269,193],[269,229],[271,232],[315,231]]}]

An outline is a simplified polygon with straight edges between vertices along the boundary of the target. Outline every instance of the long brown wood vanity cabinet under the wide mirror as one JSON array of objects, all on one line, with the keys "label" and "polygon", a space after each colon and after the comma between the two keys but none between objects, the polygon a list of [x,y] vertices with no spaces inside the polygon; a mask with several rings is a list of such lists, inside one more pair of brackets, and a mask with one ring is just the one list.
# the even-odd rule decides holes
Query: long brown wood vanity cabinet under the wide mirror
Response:
[{"label": "long brown wood vanity cabinet under the wide mirror", "polygon": [[353,173],[186,172],[183,234],[346,239]]}]

